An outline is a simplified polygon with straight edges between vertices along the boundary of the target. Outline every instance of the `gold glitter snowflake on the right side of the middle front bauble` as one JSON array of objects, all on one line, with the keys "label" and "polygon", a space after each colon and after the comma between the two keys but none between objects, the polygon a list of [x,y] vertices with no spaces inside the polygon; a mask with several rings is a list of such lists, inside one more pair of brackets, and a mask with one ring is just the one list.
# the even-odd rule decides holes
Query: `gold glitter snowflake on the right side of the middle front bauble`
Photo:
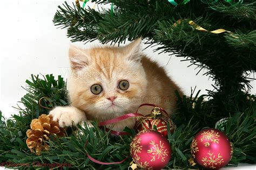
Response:
[{"label": "gold glitter snowflake on the right side of the middle front bauble", "polygon": [[151,155],[152,159],[150,161],[151,162],[155,161],[156,157],[157,157],[157,159],[161,158],[161,161],[164,162],[165,157],[167,156],[167,153],[169,153],[169,152],[167,151],[167,149],[165,149],[165,146],[163,143],[161,143],[161,140],[160,140],[160,146],[158,146],[158,144],[155,144],[154,140],[151,140],[150,144],[153,145],[153,147],[151,147],[150,150],[147,150],[147,153],[152,154]]}]

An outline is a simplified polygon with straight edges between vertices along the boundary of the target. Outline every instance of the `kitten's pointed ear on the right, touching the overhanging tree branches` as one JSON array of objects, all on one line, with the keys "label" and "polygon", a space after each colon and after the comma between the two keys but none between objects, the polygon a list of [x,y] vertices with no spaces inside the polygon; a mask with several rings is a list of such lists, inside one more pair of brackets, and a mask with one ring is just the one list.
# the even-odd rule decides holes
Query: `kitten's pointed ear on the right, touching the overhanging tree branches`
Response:
[{"label": "kitten's pointed ear on the right, touching the overhanging tree branches", "polygon": [[132,41],[129,45],[123,47],[124,53],[128,60],[140,61],[142,55],[140,55],[140,44],[142,43],[142,38],[138,38]]}]

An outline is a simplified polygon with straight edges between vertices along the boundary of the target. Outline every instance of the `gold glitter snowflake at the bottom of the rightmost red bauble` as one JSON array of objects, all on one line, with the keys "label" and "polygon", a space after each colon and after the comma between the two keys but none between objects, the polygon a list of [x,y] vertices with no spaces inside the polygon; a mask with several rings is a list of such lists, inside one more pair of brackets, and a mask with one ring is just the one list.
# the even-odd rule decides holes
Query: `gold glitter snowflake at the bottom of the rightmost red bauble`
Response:
[{"label": "gold glitter snowflake at the bottom of the rightmost red bauble", "polygon": [[220,155],[220,153],[218,153],[218,157],[215,157],[214,153],[213,152],[211,153],[211,151],[208,151],[207,154],[209,156],[203,157],[203,159],[202,159],[205,167],[210,166],[210,168],[215,169],[216,165],[218,165],[218,164],[221,165],[221,163],[224,162],[223,161],[224,159],[223,159],[222,155]]}]

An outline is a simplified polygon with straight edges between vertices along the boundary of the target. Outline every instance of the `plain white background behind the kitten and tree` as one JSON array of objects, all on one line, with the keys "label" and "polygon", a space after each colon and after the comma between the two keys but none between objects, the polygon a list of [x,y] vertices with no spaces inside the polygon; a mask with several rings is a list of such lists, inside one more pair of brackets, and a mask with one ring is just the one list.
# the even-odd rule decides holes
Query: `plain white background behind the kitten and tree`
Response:
[{"label": "plain white background behind the kitten and tree", "polygon": [[[31,74],[53,74],[68,78],[68,48],[71,42],[66,38],[66,30],[57,29],[52,22],[57,6],[63,2],[45,0],[1,2],[0,110],[5,117],[17,113],[12,106],[15,106],[26,93],[21,86],[25,86],[25,80],[29,79]],[[93,4],[87,3],[87,5]],[[92,46],[92,44],[84,45],[83,42],[78,42],[76,45]],[[153,53],[153,49],[147,48],[145,53],[166,68],[186,95],[190,95],[191,87],[197,86],[197,90],[202,90],[201,94],[206,93],[205,89],[212,89],[213,82],[208,80],[207,76],[203,76],[206,70],[202,70],[196,76],[199,69],[195,70],[194,66],[187,68],[190,62],[180,62],[181,58],[169,54],[158,55]],[[256,87],[256,82],[253,81],[251,85]],[[255,94],[256,88],[251,93]]]}]

